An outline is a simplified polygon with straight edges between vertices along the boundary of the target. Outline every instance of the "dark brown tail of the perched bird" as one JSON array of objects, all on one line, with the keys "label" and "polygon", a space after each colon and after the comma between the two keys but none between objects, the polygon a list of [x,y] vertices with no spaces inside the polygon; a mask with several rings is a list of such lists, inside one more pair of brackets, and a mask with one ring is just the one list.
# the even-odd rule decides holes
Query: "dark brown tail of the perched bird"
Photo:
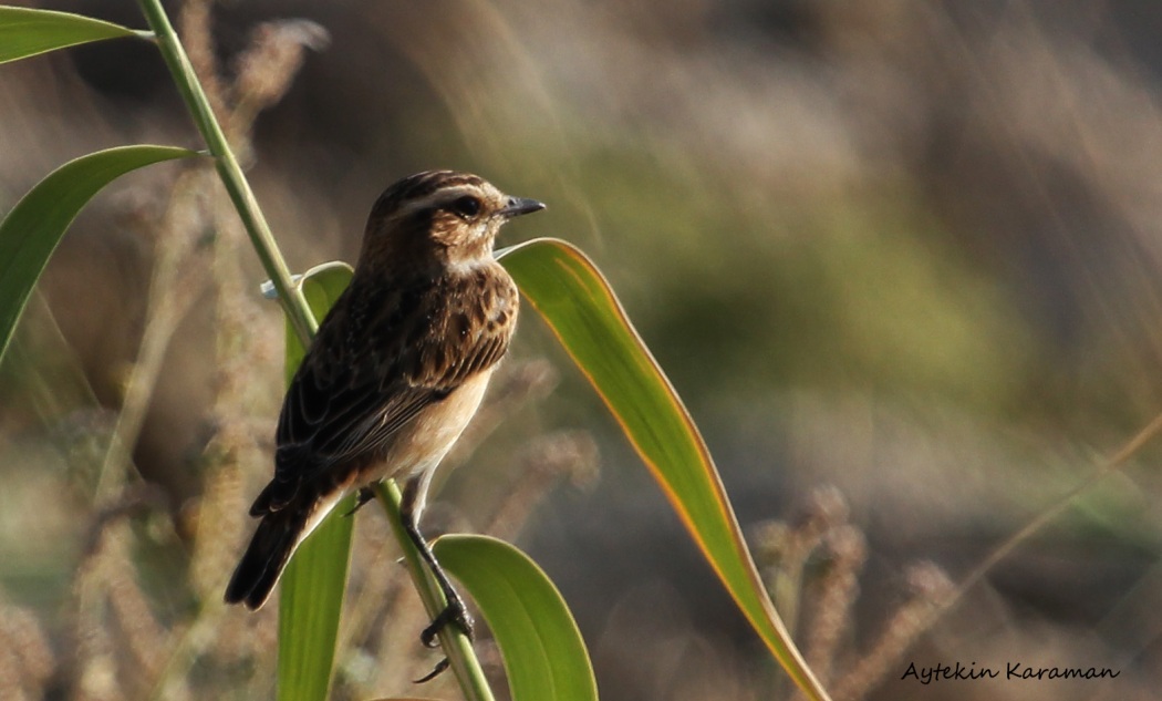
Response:
[{"label": "dark brown tail of the perched bird", "polygon": [[270,599],[299,541],[304,537],[309,509],[286,508],[267,514],[242,556],[225,588],[227,603],[258,610]]}]

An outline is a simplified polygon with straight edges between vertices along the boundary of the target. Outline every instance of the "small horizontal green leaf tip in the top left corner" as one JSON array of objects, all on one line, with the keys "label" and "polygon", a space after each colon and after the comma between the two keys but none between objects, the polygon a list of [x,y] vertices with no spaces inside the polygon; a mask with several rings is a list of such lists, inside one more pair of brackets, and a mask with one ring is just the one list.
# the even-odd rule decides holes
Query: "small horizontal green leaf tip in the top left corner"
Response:
[{"label": "small horizontal green leaf tip in the top left corner", "polygon": [[138,36],[138,33],[65,12],[0,7],[0,63],[125,36]]}]

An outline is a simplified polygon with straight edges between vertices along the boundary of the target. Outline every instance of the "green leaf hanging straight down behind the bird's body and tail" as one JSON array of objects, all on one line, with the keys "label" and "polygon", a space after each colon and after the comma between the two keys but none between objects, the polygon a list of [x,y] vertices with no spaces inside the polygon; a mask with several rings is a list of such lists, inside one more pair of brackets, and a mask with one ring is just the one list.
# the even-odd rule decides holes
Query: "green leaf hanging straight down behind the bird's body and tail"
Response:
[{"label": "green leaf hanging straight down behind the bird's body and tail", "polygon": [[[350,281],[351,266],[325,263],[307,271],[297,285],[315,319],[322,320]],[[289,384],[306,353],[289,321],[286,349],[286,380]],[[327,699],[354,524],[354,518],[344,514],[353,507],[353,496],[339,502],[299,546],[282,574],[279,585],[279,701]]]}]

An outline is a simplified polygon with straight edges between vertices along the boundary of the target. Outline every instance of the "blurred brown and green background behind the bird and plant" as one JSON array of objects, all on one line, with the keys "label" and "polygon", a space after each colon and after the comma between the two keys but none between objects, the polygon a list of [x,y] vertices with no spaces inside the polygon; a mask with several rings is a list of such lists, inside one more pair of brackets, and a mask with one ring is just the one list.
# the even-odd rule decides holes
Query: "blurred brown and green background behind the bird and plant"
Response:
[{"label": "blurred brown and green background behind the bird and plant", "polygon": [[[548,202],[502,243],[609,277],[837,699],[1156,698],[1154,444],[939,608],[1162,410],[1154,2],[168,7],[292,269],[353,260],[418,170]],[[200,146],[145,44],[5,65],[0,94],[0,210],[100,148]],[[271,694],[275,607],[218,603],[281,399],[264,278],[205,169],[119,180],[65,238],[0,365],[6,699]],[[452,462],[429,524],[528,550],[604,699],[791,695],[531,309]],[[456,698],[408,681],[435,659],[373,512],[336,698]],[[905,677],[957,661],[1000,679]]]}]

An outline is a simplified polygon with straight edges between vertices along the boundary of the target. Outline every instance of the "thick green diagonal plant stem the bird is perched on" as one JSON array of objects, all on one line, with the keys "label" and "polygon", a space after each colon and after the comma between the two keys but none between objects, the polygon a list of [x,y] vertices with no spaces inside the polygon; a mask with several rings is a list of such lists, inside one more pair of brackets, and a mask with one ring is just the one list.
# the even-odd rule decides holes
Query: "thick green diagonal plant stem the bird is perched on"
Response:
[{"label": "thick green diagonal plant stem the bird is perched on", "polygon": [[[238,216],[242,219],[242,223],[250,236],[254,251],[261,260],[263,267],[271,277],[274,289],[278,292],[279,301],[286,310],[287,317],[290,320],[297,336],[302,339],[303,345],[308,346],[315,335],[315,330],[318,328],[318,322],[311,314],[301,289],[293,282],[290,271],[279,250],[278,242],[274,239],[274,235],[266,223],[266,217],[258,206],[258,201],[250,188],[250,184],[246,181],[245,174],[242,172],[242,166],[238,164],[227,142],[225,134],[214,115],[214,110],[198,80],[189,58],[186,56],[178,35],[170,23],[168,16],[165,14],[160,0],[138,0],[138,6],[150,29],[153,31],[158,49],[166,66],[170,69],[173,81],[181,93],[181,98],[186,102],[186,107],[198,130],[206,141],[210,156],[214,157],[215,167],[222,179],[222,185],[225,187],[235,209],[238,212]],[[389,491],[393,488],[394,485],[381,493],[388,496],[383,499],[385,505],[393,501],[396,505],[394,515],[397,521],[397,494],[394,500],[389,496]],[[390,506],[386,506],[385,508],[392,513]],[[423,568],[419,553],[402,528],[394,527],[395,523],[393,522],[393,530],[396,539],[400,542],[400,548],[403,550],[404,561],[425,606],[429,609],[433,606],[439,606],[442,594],[435,581]],[[456,672],[457,679],[460,682],[465,699],[467,701],[492,701],[492,691],[488,687],[480,661],[476,659],[467,637],[464,635],[445,634],[440,635],[439,639],[450,666]]]}]

